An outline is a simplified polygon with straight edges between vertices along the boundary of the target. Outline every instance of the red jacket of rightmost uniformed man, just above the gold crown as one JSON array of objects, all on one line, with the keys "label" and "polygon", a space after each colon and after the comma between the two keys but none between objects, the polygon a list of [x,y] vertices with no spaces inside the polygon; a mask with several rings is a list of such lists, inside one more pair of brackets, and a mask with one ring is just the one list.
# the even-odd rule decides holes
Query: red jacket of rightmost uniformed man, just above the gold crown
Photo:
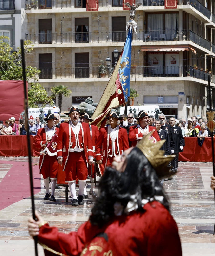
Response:
[{"label": "red jacket of rightmost uniformed man, just above the gold crown", "polygon": [[[138,127],[139,125],[134,125],[134,126],[130,126],[130,129],[129,129],[129,134],[128,134],[128,138],[129,140],[132,142],[131,143],[131,146],[136,146],[138,140],[142,139],[143,138],[143,134],[142,133],[139,133],[138,131]],[[152,130],[155,129],[155,127],[151,126],[151,125],[148,125],[149,127],[149,132],[151,132]],[[155,129],[155,131],[152,133],[152,136],[155,138],[156,141],[160,141],[160,137],[157,133],[157,130]]]}]

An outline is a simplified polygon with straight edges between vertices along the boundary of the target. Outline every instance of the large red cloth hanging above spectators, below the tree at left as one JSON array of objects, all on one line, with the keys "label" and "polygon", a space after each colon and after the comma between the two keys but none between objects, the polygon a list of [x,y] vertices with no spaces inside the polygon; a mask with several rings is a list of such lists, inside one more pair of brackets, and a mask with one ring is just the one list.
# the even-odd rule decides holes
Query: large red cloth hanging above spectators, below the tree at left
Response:
[{"label": "large red cloth hanging above spectators, below the tree at left", "polygon": [[[28,83],[27,88],[28,88]],[[0,120],[7,120],[12,116],[19,120],[20,113],[24,110],[24,85],[23,81],[2,80],[0,81],[1,114]]]}]

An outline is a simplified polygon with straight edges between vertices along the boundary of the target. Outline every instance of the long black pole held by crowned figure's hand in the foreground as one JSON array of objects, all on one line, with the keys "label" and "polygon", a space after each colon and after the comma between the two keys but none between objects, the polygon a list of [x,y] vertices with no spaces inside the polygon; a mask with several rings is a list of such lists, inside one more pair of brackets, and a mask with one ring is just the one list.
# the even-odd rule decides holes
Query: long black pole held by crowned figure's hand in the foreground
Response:
[{"label": "long black pole held by crowned figure's hand in the foreground", "polygon": [[[29,164],[29,173],[30,173],[30,186],[31,186],[31,208],[32,208],[32,217],[34,220],[37,220],[35,216],[35,205],[34,205],[34,194],[33,194],[33,175],[32,175],[32,164],[31,164],[31,144],[30,144],[30,134],[29,134],[29,124],[28,124],[28,99],[27,99],[27,88],[26,88],[26,73],[25,73],[25,55],[24,55],[24,41],[21,41],[21,56],[22,56],[22,76],[24,84],[24,94],[25,94],[25,127],[27,128],[27,141],[28,141],[28,164]],[[35,255],[38,255],[37,251],[37,237],[34,237],[35,245]]]}]

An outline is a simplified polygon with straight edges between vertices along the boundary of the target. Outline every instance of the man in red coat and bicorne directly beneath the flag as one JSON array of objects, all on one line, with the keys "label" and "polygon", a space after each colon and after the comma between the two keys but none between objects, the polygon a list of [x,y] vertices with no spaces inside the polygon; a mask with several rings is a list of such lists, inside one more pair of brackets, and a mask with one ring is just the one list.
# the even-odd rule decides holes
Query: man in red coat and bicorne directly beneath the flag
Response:
[{"label": "man in red coat and bicorne directly beneath the flag", "polygon": [[[122,116],[119,117],[116,112],[111,111],[107,119],[110,125],[100,129],[96,142],[96,150],[102,148],[104,170],[106,166],[111,165],[114,157],[122,155],[123,151],[129,148],[126,129],[117,125]],[[101,164],[101,155],[96,155],[96,160]]]}]

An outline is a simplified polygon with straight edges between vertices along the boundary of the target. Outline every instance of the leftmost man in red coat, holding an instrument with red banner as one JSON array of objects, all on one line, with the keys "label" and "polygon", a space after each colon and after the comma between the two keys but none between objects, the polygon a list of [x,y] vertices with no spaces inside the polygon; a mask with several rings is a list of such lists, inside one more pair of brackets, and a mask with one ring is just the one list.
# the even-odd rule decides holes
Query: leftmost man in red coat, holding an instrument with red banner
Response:
[{"label": "leftmost man in red coat, holding an instrument with red banner", "polygon": [[[34,145],[40,148],[40,173],[42,174],[46,195],[45,200],[49,200],[49,177],[51,179],[51,201],[56,201],[54,190],[57,182],[58,160],[56,151],[56,141],[59,129],[55,126],[56,116],[53,113],[48,113],[44,120],[47,125],[44,128],[38,129],[37,135],[34,137]],[[51,143],[50,143],[51,142]],[[47,144],[48,143],[48,144]],[[47,145],[46,145],[47,144]],[[44,148],[44,146],[46,146]]]}]

